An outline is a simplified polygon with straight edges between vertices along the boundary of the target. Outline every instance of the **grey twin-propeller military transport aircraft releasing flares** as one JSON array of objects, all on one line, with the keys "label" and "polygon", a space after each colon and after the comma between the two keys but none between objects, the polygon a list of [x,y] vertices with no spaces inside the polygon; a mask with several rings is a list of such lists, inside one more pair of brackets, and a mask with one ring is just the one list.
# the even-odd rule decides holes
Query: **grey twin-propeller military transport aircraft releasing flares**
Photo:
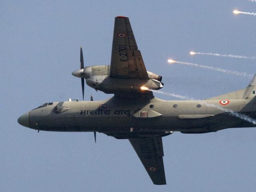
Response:
[{"label": "grey twin-propeller military transport aircraft releasing flares", "polygon": [[[162,137],[174,131],[208,133],[226,128],[254,127],[234,116],[256,112],[256,78],[243,90],[206,100],[161,100],[151,90],[163,87],[162,77],[146,71],[129,19],[115,18],[111,63],[86,66],[80,49],[80,69],[72,73],[88,86],[114,94],[102,101],[48,102],[18,118],[35,130],[102,132],[128,139],[154,184],[166,184]],[[232,110],[233,113],[230,111]]]}]

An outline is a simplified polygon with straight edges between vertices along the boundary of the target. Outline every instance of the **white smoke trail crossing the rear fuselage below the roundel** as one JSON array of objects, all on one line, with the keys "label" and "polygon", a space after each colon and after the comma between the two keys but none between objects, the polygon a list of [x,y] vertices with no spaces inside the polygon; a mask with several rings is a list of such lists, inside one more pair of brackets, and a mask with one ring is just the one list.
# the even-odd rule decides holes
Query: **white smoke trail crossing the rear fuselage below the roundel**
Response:
[{"label": "white smoke trail crossing the rear fuselage below the roundel", "polygon": [[[150,90],[150,89],[148,89],[148,90]],[[194,99],[194,98],[190,98],[190,97],[188,97],[188,96],[182,96],[182,95],[179,95],[179,94],[166,93],[166,92],[158,91],[158,90],[150,90],[150,91],[157,92],[157,93],[160,93],[160,94],[163,94],[163,95],[167,95],[167,96],[173,96],[173,97],[180,98],[180,99],[185,99],[185,100],[196,100],[196,99]],[[225,108],[222,108],[222,107],[220,107],[220,106],[218,106],[218,105],[210,104],[210,103],[208,103],[208,102],[202,102],[201,104],[204,104],[204,105],[206,105],[206,106],[208,106],[208,107],[217,108],[217,109],[219,109],[219,110],[222,110],[222,111],[224,111],[224,112],[229,113],[231,116],[235,116],[235,117],[237,117],[237,118],[240,118],[240,119],[242,119],[242,120],[245,120],[245,121],[247,121],[247,122],[250,122],[250,123],[256,125],[256,120],[250,118],[250,117],[247,116],[247,115],[240,114],[240,113],[238,113],[238,112],[234,112],[233,110],[225,109]]]}]

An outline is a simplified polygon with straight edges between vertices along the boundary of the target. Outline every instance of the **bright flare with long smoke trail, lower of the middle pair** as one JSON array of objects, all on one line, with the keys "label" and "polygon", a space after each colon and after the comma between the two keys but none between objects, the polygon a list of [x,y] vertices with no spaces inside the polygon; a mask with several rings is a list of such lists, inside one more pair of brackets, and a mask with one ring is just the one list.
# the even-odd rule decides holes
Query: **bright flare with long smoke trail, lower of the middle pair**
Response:
[{"label": "bright flare with long smoke trail, lower of the middle pair", "polygon": [[194,67],[199,67],[199,68],[204,68],[204,69],[211,69],[211,70],[215,70],[215,71],[226,73],[226,74],[232,74],[232,75],[243,76],[243,77],[248,77],[248,78],[252,78],[253,77],[252,74],[247,74],[245,72],[231,71],[231,70],[226,70],[226,69],[222,69],[222,68],[218,68],[218,67],[212,67],[212,66],[207,66],[207,65],[200,65],[200,64],[196,64],[196,63],[174,61],[174,60],[171,60],[171,59],[168,60],[168,63],[179,63],[179,64],[184,64],[184,65],[190,65],[190,66],[194,66]]}]

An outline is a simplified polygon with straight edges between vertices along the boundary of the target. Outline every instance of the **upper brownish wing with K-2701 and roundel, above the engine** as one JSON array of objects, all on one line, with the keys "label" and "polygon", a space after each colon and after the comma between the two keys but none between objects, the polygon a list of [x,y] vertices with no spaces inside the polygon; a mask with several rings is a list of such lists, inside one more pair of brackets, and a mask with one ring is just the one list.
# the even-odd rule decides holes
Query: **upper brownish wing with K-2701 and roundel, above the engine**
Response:
[{"label": "upper brownish wing with K-2701 and roundel, above the engine", "polygon": [[128,17],[115,18],[110,77],[148,79]]}]

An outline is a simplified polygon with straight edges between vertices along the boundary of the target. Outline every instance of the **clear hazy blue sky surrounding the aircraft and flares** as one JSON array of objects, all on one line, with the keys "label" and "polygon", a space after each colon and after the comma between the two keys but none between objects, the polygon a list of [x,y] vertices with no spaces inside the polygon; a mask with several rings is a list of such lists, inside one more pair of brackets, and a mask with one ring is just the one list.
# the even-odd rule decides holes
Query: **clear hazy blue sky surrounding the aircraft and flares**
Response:
[{"label": "clear hazy blue sky surrounding the aircraft and flares", "polygon": [[[168,65],[167,59],[255,74],[255,60],[190,56],[218,52],[256,56],[256,12],[248,0],[3,1],[0,6],[0,191],[252,191],[256,129],[164,137],[166,186],[154,186],[128,140],[93,133],[39,132],[17,123],[44,102],[82,99],[85,65],[110,64],[114,17],[128,16],[148,71],[165,92],[209,98],[247,86],[249,78]],[[112,95],[86,86],[86,100]],[[176,100],[155,94],[156,97]]]}]

